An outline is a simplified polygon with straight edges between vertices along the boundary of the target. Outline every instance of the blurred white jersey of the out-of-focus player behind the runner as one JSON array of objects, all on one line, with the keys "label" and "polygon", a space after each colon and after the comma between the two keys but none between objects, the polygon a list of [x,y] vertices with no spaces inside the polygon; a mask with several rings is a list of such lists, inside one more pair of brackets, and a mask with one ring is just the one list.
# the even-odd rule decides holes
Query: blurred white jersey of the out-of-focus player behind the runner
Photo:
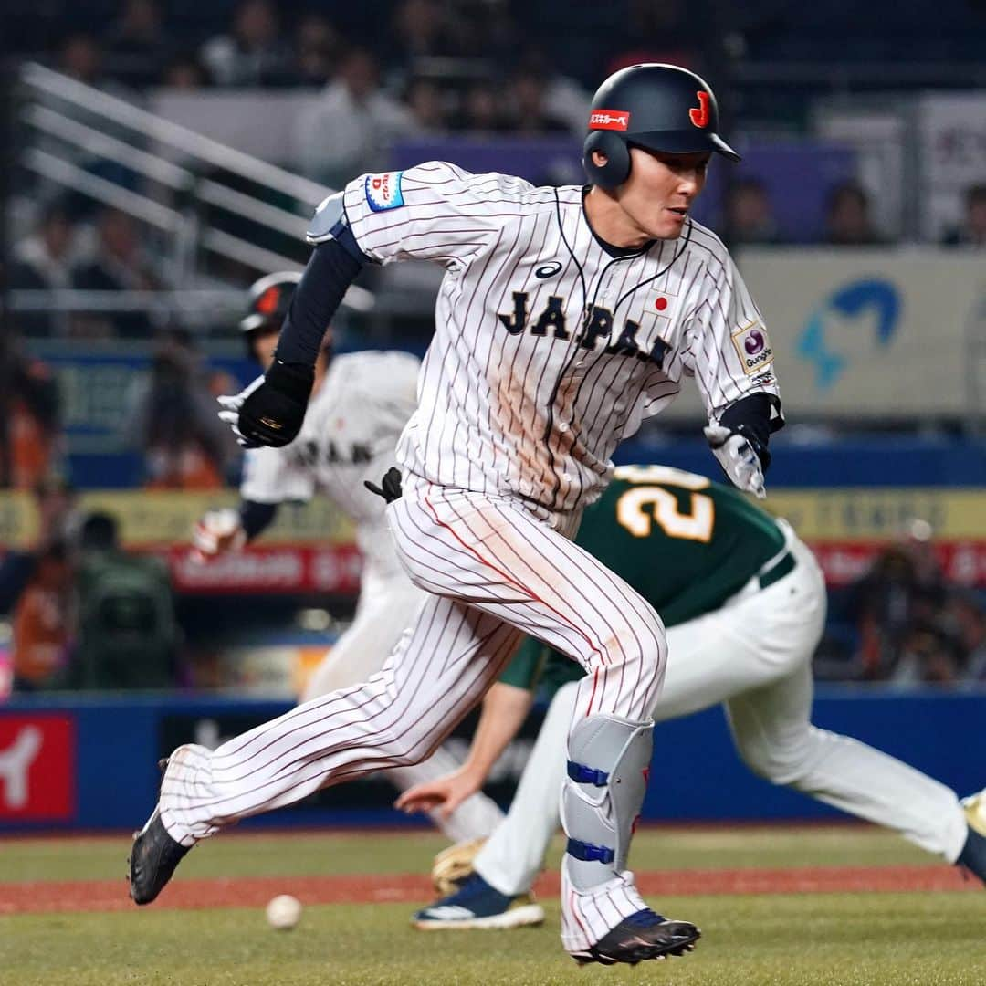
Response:
[{"label": "blurred white jersey of the out-of-focus player behind the runner", "polygon": [[334,357],[298,438],[283,449],[246,453],[240,495],[254,503],[283,503],[326,494],[355,522],[367,562],[386,574],[397,565],[386,504],[363,482],[379,483],[393,465],[397,438],[417,406],[419,369],[408,353]]}]

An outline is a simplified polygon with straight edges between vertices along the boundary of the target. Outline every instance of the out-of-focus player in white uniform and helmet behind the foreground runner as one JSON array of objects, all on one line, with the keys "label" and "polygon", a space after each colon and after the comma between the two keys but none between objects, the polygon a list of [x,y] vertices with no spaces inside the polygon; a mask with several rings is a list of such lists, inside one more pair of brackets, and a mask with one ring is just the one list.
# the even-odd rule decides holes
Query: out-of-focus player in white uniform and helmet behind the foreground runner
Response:
[{"label": "out-of-focus player in white uniform and helmet behind the foreground runner", "polygon": [[[273,362],[277,336],[300,279],[290,271],[269,274],[249,290],[240,327],[250,358],[264,370]],[[363,485],[366,479],[379,478],[393,461],[397,439],[417,407],[419,369],[419,361],[409,353],[333,355],[328,329],[298,437],[280,449],[247,450],[239,511],[209,511],[194,530],[194,547],[202,557],[236,550],[269,527],[279,504],[307,502],[317,491],[328,495],[355,525],[363,555],[355,617],[309,678],[303,702],[358,684],[380,670],[427,596],[397,561],[384,502]],[[387,779],[403,791],[456,766],[452,755],[439,747],[423,763],[387,771]],[[503,812],[483,795],[452,814],[436,816],[436,823],[458,842],[481,839],[502,818]]]}]

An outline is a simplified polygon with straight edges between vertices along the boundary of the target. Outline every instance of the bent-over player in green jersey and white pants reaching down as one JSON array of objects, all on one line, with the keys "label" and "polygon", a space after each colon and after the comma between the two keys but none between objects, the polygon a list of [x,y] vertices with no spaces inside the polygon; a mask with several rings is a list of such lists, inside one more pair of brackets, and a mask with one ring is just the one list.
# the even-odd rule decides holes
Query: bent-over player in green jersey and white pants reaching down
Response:
[{"label": "bent-over player in green jersey and white pants reaching down", "polygon": [[[930,777],[811,725],[825,584],[785,522],[703,476],[625,466],[586,512],[578,543],[669,627],[656,721],[723,702],[740,757],[756,774],[892,828],[986,881],[986,797],[963,810]],[[543,919],[529,890],[558,827],[556,792],[579,687],[579,669],[547,650],[528,641],[490,689],[466,763],[398,800],[405,810],[453,810],[478,790],[524,721],[546,660],[545,683],[558,690],[507,819],[475,856],[473,876],[414,916],[418,928],[513,928]]]}]

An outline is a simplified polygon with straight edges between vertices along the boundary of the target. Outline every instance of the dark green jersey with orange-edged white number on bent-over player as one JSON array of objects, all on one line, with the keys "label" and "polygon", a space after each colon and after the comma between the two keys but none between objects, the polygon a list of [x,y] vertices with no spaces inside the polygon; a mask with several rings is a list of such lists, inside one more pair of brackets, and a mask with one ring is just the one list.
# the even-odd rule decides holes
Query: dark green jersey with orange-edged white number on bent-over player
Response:
[{"label": "dark green jersey with orange-edged white number on bent-over player", "polygon": [[[666,465],[624,465],[586,511],[576,542],[674,626],[739,592],[782,551],[784,533],[732,487]],[[531,688],[543,670],[544,684],[557,686],[584,673],[568,659],[545,668],[550,653],[528,639],[500,680]]]}]

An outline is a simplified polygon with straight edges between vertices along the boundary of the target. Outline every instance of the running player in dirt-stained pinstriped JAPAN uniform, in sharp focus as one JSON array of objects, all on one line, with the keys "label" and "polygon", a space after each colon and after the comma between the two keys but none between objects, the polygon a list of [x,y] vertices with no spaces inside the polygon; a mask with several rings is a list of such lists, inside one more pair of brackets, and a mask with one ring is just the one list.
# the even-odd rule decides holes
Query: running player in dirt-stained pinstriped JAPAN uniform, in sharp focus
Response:
[{"label": "running player in dirt-stained pinstriped JAPAN uniform, in sharp focus", "polygon": [[617,444],[689,376],[716,457],[764,495],[783,420],[770,343],[727,250],[689,216],[712,155],[737,158],[718,126],[698,76],[633,66],[594,97],[588,186],[429,162],[359,177],[319,206],[274,363],[224,414],[247,446],[292,441],[323,327],[362,266],[442,264],[418,409],[397,448],[402,496],[387,509],[402,564],[431,595],[365,684],[216,750],[176,749],[133,848],[134,900],[153,900],[184,852],[239,818],[423,759],[529,634],[587,672],[562,793],[564,948],[611,964],[694,946],[698,929],[648,908],[626,869],[664,626],[571,538]]}]

